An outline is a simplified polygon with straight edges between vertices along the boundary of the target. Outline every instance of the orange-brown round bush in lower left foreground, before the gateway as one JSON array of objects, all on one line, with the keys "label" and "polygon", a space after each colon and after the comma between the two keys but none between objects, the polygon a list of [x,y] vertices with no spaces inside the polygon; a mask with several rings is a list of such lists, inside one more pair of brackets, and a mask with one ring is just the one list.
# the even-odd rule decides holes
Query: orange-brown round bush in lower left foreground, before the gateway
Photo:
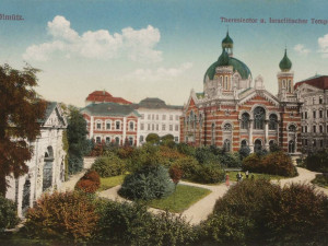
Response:
[{"label": "orange-brown round bush in lower left foreground, before the gateway", "polygon": [[82,242],[92,238],[99,215],[90,196],[84,192],[45,194],[26,214],[30,236]]}]

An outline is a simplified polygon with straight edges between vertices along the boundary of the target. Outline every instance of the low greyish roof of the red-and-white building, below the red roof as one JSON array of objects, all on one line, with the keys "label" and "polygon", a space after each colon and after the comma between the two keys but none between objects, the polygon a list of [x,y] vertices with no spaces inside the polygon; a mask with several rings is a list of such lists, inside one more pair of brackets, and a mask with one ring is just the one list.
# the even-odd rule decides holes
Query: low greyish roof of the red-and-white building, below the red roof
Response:
[{"label": "low greyish roof of the red-and-white building, below the red roof", "polygon": [[128,116],[131,114],[138,117],[140,116],[132,105],[121,105],[116,103],[90,104],[82,108],[81,112],[92,116]]}]

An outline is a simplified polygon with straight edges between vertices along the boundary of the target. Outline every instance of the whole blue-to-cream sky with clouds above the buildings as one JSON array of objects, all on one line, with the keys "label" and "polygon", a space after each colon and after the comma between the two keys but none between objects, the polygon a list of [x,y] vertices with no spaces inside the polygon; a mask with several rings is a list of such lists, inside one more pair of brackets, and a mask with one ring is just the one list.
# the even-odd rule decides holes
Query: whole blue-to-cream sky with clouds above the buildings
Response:
[{"label": "whole blue-to-cream sky with clouds above the buildings", "polygon": [[83,106],[89,93],[105,89],[132,102],[156,96],[183,104],[191,89],[202,91],[221,54],[227,26],[221,17],[265,19],[229,30],[234,56],[276,94],[285,46],[295,81],[328,74],[328,24],[312,24],[328,20],[327,9],[324,0],[2,0],[0,14],[24,21],[0,20],[0,62],[42,69],[37,91],[50,101]]}]

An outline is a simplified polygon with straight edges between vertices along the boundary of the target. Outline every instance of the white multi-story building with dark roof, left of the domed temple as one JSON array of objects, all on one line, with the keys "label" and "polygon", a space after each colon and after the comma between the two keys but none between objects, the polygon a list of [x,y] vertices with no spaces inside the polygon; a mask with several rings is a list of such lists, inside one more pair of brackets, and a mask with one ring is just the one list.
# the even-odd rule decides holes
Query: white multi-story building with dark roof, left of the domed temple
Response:
[{"label": "white multi-story building with dark roof, left of the domed temple", "polygon": [[183,115],[183,106],[166,105],[160,98],[147,97],[133,107],[141,115],[138,122],[139,143],[145,142],[149,133],[156,133],[160,137],[172,134],[175,142],[179,142],[179,118]]}]

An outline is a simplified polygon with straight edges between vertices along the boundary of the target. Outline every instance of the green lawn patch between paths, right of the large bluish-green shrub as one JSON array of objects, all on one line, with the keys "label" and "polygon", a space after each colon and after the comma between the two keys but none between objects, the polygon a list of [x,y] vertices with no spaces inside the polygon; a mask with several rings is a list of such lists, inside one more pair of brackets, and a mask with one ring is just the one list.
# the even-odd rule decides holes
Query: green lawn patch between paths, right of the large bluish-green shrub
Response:
[{"label": "green lawn patch between paths, right of the large bluish-green shrub", "polygon": [[169,212],[183,212],[210,192],[211,190],[209,189],[178,185],[176,191],[171,196],[151,200],[148,204],[152,208],[168,210]]}]

